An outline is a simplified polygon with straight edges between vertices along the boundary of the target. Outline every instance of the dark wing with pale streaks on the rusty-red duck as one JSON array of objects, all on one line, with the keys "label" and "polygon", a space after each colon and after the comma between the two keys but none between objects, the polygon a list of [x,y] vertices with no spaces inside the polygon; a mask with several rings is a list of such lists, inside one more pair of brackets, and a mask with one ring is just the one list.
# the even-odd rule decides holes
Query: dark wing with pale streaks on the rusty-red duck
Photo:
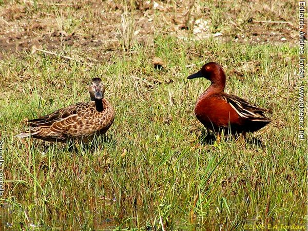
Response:
[{"label": "dark wing with pale streaks on the rusty-red duck", "polygon": [[252,121],[272,121],[265,117],[264,112],[268,111],[265,108],[256,107],[235,95],[224,94],[223,98],[242,118]]}]

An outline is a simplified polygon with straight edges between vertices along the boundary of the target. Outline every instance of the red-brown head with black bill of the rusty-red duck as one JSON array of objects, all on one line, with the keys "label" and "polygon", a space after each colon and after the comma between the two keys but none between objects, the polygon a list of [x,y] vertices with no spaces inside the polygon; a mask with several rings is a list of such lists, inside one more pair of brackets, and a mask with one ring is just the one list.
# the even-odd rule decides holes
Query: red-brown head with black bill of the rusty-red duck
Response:
[{"label": "red-brown head with black bill of the rusty-red duck", "polygon": [[216,88],[222,88],[222,90],[226,85],[226,75],[222,67],[215,62],[204,64],[200,71],[195,74],[189,75],[187,79],[191,80],[201,77],[208,79],[212,83],[212,85],[214,85]]}]

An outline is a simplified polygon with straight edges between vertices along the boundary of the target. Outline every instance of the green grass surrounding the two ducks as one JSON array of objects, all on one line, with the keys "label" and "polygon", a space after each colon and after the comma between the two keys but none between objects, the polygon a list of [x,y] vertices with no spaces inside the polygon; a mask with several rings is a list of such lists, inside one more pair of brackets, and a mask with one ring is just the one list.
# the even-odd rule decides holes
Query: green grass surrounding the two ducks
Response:
[{"label": "green grass surrounding the two ducks", "polygon": [[[242,230],[307,222],[297,48],[161,34],[154,42],[153,50],[134,44],[91,66],[40,52],[0,63],[4,229]],[[153,70],[153,56],[163,60],[162,70]],[[273,111],[273,122],[244,144],[233,137],[202,142],[206,130],[193,111],[209,82],[186,78],[209,61],[224,67],[226,92]],[[256,70],[236,74],[247,62]],[[116,111],[107,137],[94,141],[97,148],[75,152],[13,137],[26,129],[25,118],[89,101],[94,76]]]}]

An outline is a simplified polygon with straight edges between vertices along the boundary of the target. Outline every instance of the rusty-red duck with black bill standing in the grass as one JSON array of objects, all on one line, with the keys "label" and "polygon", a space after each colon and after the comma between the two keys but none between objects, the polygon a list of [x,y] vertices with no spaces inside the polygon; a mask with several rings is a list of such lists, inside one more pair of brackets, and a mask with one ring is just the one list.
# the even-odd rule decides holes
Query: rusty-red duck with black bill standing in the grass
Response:
[{"label": "rusty-red duck with black bill standing in the grass", "polygon": [[245,100],[224,93],[226,76],[218,63],[207,63],[200,71],[187,79],[204,77],[211,82],[209,88],[197,100],[197,119],[214,132],[225,130],[229,133],[254,132],[272,120],[265,117],[264,108],[256,107]]}]

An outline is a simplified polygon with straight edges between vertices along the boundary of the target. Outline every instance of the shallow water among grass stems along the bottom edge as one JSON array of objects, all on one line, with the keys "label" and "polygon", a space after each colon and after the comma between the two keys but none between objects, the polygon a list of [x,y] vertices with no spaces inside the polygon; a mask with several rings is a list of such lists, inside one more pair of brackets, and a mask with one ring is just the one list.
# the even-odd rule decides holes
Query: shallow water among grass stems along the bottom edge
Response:
[{"label": "shallow water among grass stems along the bottom edge", "polygon": [[[231,211],[233,214],[234,211]],[[95,230],[114,230],[119,229],[119,222],[115,221],[113,218],[103,218],[104,216],[97,214],[97,217],[91,217],[89,213],[84,213],[84,222],[83,225],[78,224],[78,221],[72,220],[70,217],[66,219],[64,217],[58,217],[57,219],[52,219],[51,217],[46,218],[44,222],[34,222],[34,218],[27,216],[27,224],[21,222],[23,220],[24,211],[14,209],[12,205],[5,202],[0,206],[0,230],[13,230],[13,225],[16,228],[16,224],[13,224],[12,217],[15,217],[16,214],[20,214],[20,225],[17,227],[26,228],[28,230],[63,230],[72,228],[94,228]],[[17,216],[18,217],[18,216]],[[91,217],[91,218],[90,218]],[[88,218],[88,220],[87,220]],[[227,218],[227,219],[226,219]],[[42,218],[43,219],[43,218]],[[36,219],[37,220],[37,219]],[[38,219],[41,220],[41,219]],[[136,219],[132,219],[136,220]],[[184,219],[189,221],[190,218]],[[307,216],[306,215],[291,215],[291,216],[279,216],[278,218],[268,218],[262,219],[257,217],[247,218],[245,220],[236,220],[232,217],[221,214],[221,216],[215,221],[203,222],[202,218],[199,217],[192,223],[184,223],[182,219],[173,222],[173,227],[175,230],[307,230]],[[227,222],[226,222],[227,220]],[[133,221],[134,222],[134,221]],[[88,223],[88,224],[87,224]],[[135,226],[135,225],[134,225]],[[136,226],[137,223],[136,223]],[[156,223],[156,228],[152,228],[150,225],[143,227],[141,230],[151,231],[156,230],[161,227],[159,220]],[[121,228],[127,228],[123,226]]]}]

